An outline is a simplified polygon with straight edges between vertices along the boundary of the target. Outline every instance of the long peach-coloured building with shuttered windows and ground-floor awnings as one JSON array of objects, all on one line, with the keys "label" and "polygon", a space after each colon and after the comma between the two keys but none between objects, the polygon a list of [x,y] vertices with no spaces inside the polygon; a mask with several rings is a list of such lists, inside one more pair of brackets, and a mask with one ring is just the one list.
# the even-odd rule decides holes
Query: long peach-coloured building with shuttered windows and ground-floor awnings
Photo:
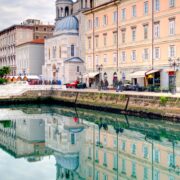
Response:
[{"label": "long peach-coloured building with shuttered windows and ground-floor awnings", "polygon": [[119,80],[161,89],[168,89],[176,74],[179,90],[180,71],[168,62],[180,57],[179,11],[175,0],[95,0],[84,12],[87,70],[96,72],[102,64],[102,78],[107,73],[110,84],[117,74]]}]

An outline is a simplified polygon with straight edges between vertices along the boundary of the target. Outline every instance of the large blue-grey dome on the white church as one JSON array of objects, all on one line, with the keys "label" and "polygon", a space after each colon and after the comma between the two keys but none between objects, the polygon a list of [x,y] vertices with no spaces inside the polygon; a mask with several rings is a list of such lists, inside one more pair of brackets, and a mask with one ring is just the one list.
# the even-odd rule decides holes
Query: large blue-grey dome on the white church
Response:
[{"label": "large blue-grey dome on the white church", "polygon": [[79,22],[75,16],[67,16],[56,22],[55,31],[78,31]]}]

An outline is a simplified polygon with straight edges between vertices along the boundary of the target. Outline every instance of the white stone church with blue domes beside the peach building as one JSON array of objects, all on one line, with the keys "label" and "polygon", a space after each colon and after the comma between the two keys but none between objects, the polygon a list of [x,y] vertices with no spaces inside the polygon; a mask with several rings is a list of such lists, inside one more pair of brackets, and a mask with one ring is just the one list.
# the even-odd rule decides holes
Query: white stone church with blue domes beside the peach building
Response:
[{"label": "white stone church with blue domes beside the peach building", "polygon": [[85,19],[90,1],[57,0],[53,37],[45,41],[44,79],[69,83],[85,72]]}]

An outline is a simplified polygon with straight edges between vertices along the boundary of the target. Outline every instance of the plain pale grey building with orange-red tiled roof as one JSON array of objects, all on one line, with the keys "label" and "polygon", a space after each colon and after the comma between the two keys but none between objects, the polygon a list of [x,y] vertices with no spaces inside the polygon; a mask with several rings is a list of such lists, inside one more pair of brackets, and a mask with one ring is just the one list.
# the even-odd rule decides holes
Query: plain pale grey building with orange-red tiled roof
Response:
[{"label": "plain pale grey building with orange-red tiled roof", "polygon": [[44,39],[36,39],[16,47],[17,75],[42,75]]}]

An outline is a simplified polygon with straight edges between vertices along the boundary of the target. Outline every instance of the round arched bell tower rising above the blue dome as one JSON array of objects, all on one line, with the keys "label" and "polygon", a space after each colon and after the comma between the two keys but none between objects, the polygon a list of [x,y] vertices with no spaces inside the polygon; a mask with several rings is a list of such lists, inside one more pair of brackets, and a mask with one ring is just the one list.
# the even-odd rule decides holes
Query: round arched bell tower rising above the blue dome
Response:
[{"label": "round arched bell tower rising above the blue dome", "polygon": [[72,14],[72,0],[56,0],[56,21]]}]

